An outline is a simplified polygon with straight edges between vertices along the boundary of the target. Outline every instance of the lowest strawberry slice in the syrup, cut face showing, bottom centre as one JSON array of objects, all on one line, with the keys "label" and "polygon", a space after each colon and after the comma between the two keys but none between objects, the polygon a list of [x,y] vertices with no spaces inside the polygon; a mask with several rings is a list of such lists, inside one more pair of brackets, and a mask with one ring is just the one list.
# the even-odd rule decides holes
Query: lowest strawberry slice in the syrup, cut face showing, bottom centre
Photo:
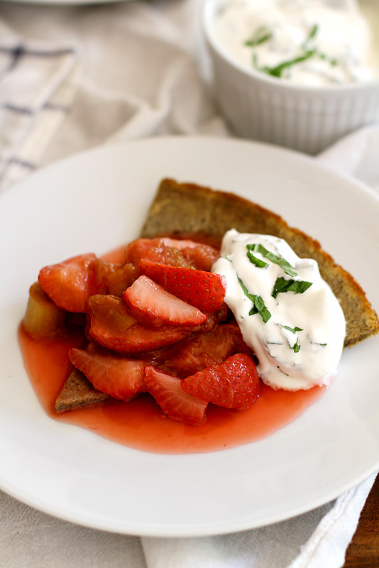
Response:
[{"label": "lowest strawberry slice in the syrup, cut face showing, bottom centre", "polygon": [[145,387],[163,412],[180,422],[199,424],[205,419],[208,403],[185,393],[181,379],[157,371],[153,366],[145,368]]}]

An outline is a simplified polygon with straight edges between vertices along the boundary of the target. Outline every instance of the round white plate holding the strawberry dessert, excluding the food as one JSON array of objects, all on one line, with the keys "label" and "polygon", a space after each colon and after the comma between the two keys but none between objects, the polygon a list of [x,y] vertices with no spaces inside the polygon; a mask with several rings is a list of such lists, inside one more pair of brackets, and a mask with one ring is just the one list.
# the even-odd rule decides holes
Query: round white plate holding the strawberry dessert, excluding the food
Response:
[{"label": "round white plate holding the strawberry dessert, excluding the food", "polygon": [[40,510],[136,535],[253,528],[322,505],[379,468],[379,337],[346,351],[329,391],[275,435],[224,452],[160,455],[51,420],[16,331],[41,266],[133,239],[163,177],[250,197],[319,239],[379,308],[379,200],[291,151],[155,138],[64,160],[0,198],[0,487]]}]

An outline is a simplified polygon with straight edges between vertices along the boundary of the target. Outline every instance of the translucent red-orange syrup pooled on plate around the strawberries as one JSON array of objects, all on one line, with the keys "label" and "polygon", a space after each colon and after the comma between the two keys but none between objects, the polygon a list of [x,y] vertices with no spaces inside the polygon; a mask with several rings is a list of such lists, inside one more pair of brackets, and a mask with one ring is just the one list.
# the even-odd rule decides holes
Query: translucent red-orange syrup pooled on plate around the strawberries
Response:
[{"label": "translucent red-orange syrup pooled on plate around the strawberries", "polygon": [[[109,254],[106,260],[118,262],[122,250]],[[57,415],[55,398],[71,368],[67,351],[71,346],[80,346],[82,337],[36,342],[20,327],[18,338],[28,376],[50,417],[145,452],[212,452],[254,442],[295,420],[325,390],[314,387],[292,393],[274,391],[263,385],[258,400],[248,410],[234,411],[209,405],[207,421],[196,426],[164,417],[150,395],[141,395],[129,403],[112,402]]]}]

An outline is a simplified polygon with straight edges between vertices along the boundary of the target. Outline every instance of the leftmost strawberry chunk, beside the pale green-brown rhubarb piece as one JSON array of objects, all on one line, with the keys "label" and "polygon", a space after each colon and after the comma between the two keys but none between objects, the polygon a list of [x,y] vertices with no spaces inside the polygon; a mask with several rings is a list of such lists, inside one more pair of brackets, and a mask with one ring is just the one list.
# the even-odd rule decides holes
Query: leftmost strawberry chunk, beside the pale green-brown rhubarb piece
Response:
[{"label": "leftmost strawberry chunk, beside the pale green-brown rhubarb piece", "polygon": [[96,256],[89,253],[45,266],[38,275],[40,287],[57,306],[84,313],[89,296],[95,292],[95,260]]}]

